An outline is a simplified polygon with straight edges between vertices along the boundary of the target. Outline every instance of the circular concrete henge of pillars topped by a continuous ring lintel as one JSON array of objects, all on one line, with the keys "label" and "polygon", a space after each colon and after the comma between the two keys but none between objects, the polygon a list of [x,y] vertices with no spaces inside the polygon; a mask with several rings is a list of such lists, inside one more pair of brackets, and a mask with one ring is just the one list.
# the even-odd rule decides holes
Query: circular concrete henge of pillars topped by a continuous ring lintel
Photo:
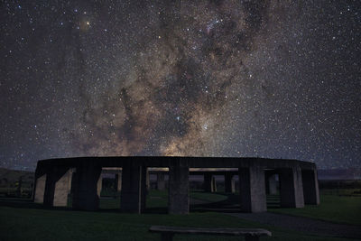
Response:
[{"label": "circular concrete henge of pillars topped by a continuous ring lintel", "polygon": [[[39,161],[35,171],[33,201],[43,203],[46,207],[67,206],[71,189],[73,209],[96,210],[101,190],[101,172],[106,168],[117,170],[116,184],[118,190],[121,190],[120,209],[125,212],[141,213],[145,209],[148,168],[168,168],[169,171],[158,172],[157,182],[159,188],[164,188],[164,174],[169,175],[168,210],[171,214],[189,213],[190,168],[216,170],[197,172],[204,175],[206,190],[212,190],[212,175],[217,174],[225,176],[225,190],[231,192],[234,190],[232,178],[237,175],[240,211],[243,212],[266,211],[266,192],[274,192],[275,182],[280,185],[281,207],[303,208],[305,204],[319,204],[319,184],[314,162],[167,156],[77,157]],[[221,168],[233,171],[219,171]],[[278,175],[278,181],[274,179],[275,175]]]}]

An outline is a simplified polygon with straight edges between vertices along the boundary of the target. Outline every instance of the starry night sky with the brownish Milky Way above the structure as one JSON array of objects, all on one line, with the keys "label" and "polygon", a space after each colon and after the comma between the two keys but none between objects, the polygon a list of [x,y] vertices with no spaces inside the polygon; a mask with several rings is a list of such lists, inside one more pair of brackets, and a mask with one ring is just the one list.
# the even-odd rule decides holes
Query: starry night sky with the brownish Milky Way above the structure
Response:
[{"label": "starry night sky with the brownish Milky Way above the structure", "polygon": [[0,166],[83,155],[361,167],[361,3],[1,1]]}]

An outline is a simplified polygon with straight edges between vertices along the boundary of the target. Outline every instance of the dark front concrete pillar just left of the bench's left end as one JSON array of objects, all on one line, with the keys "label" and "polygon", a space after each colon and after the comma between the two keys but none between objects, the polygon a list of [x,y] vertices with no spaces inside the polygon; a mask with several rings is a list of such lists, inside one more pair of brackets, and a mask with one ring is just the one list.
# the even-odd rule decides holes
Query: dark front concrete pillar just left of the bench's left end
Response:
[{"label": "dark front concrete pillar just left of the bench's left end", "polygon": [[127,162],[122,171],[120,209],[125,212],[142,213],[145,209],[146,170],[144,167]]}]

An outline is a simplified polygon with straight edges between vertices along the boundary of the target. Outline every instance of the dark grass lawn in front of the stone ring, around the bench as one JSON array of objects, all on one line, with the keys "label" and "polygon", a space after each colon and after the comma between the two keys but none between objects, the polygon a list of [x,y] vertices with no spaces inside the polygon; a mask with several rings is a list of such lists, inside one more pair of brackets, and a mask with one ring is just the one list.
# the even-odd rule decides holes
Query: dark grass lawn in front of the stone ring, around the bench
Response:
[{"label": "dark grass lawn in front of the stone ring, around the bench", "polygon": [[[273,238],[262,240],[344,240],[310,236],[266,227],[220,213],[121,214],[69,210],[0,207],[1,240],[160,240],[150,234],[152,225],[183,227],[264,227]],[[226,236],[175,236],[174,240],[239,240]],[[345,239],[350,240],[350,239]]]}]

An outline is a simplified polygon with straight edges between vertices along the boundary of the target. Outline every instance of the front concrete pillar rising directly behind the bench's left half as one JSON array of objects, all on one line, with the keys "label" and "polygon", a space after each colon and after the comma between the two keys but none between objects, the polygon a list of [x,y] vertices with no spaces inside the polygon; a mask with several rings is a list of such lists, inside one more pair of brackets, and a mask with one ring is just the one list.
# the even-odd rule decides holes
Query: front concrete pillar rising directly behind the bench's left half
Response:
[{"label": "front concrete pillar rising directly behind the bench's left half", "polygon": [[190,171],[187,160],[174,160],[169,167],[168,212],[190,212]]}]

